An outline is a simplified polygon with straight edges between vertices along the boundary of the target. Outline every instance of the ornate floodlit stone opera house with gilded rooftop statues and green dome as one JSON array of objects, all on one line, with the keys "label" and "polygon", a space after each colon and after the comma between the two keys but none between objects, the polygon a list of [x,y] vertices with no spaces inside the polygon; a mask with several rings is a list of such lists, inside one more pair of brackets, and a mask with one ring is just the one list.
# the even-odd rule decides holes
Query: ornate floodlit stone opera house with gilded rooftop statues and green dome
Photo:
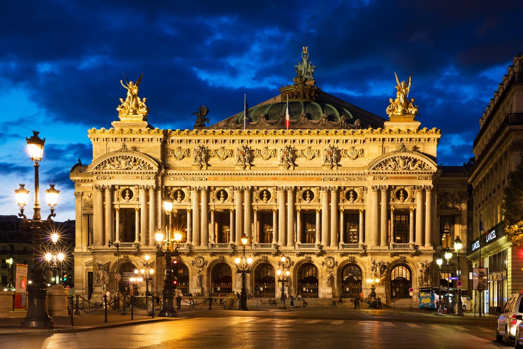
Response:
[{"label": "ornate floodlit stone opera house with gilded rooftop statues and green dome", "polygon": [[[289,296],[367,296],[365,280],[379,277],[382,300],[394,296],[406,306],[411,287],[414,304],[420,286],[436,287],[437,209],[452,217],[446,238],[461,232],[466,246],[467,176],[442,176],[440,130],[419,128],[407,97],[411,78],[396,77],[396,99],[382,118],[322,91],[314,68],[304,48],[293,84],[279,95],[247,117],[207,127],[202,106],[193,130],[151,126],[139,82],[128,82],[135,94],[121,99],[119,120],[89,130],[93,160],[71,170],[75,292],[91,296],[104,285],[114,292],[117,270],[126,286],[149,254],[160,293],[165,266],[155,257],[155,234],[169,231],[170,239],[183,235],[178,280],[193,294],[240,290],[234,258],[243,235],[254,259],[247,291],[257,297],[279,296],[281,256]],[[118,262],[109,240],[119,243]]]}]

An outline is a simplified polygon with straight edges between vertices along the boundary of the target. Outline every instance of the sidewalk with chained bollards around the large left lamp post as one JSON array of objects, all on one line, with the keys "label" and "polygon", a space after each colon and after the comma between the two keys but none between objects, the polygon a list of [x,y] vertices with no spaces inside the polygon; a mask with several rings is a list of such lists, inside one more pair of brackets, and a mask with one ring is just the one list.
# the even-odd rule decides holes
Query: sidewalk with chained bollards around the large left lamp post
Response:
[{"label": "sidewalk with chained bollards around the large left lamp post", "polygon": [[25,318],[25,312],[3,313],[5,317],[0,318],[0,334],[26,334],[26,333],[65,333],[65,332],[82,332],[94,329],[105,329],[117,326],[135,325],[140,323],[158,322],[176,320],[178,318],[160,318],[155,315],[154,319],[145,315],[145,310],[134,310],[133,320],[131,320],[131,311],[127,315],[121,315],[119,311],[108,310],[107,322],[105,322],[104,311],[97,310],[94,313],[80,312],[80,315],[74,315],[73,326],[71,326],[70,317],[54,317],[53,329],[22,329],[20,324]]}]

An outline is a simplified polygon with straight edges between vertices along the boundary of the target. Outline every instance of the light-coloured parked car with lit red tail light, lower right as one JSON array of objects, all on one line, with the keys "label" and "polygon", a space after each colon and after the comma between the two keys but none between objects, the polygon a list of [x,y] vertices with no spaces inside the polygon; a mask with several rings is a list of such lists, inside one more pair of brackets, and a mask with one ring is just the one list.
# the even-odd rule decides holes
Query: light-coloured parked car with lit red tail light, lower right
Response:
[{"label": "light-coloured parked car with lit red tail light, lower right", "polygon": [[505,307],[496,309],[501,313],[497,319],[496,341],[503,340],[505,344],[510,344],[516,338],[516,328],[523,319],[522,299],[523,291],[516,292],[507,300]]}]

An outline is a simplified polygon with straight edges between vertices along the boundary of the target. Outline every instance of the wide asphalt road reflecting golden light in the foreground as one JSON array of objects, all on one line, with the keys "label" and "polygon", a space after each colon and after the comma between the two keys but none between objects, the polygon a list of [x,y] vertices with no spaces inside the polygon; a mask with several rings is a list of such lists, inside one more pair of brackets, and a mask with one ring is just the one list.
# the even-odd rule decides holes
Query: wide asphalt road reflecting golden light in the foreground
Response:
[{"label": "wide asphalt road reflecting golden light in the foreground", "polygon": [[76,333],[3,335],[15,348],[499,348],[495,318],[339,310],[187,310],[172,321]]}]

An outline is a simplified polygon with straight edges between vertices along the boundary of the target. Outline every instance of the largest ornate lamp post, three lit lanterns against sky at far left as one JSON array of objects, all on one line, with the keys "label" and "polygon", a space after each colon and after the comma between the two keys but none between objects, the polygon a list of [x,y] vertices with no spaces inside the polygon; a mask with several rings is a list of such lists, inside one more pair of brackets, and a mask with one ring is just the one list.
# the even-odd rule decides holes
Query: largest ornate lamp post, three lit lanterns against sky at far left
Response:
[{"label": "largest ornate lamp post, three lit lanterns against sky at far left", "polygon": [[[42,241],[41,228],[44,223],[51,222],[51,217],[54,217],[54,207],[56,206],[56,197],[59,191],[54,189],[54,184],[51,184],[51,188],[46,190],[48,194],[49,206],[51,206],[51,214],[48,217],[47,222],[41,221],[40,215],[40,181],[38,176],[38,168],[40,167],[39,161],[43,157],[43,146],[46,139],[41,139],[38,136],[39,132],[33,131],[33,135],[30,138],[26,138],[27,146],[29,150],[29,156],[31,161],[34,161],[33,166],[35,167],[35,204],[33,219],[30,221],[30,229],[33,234],[33,244],[36,240]],[[20,188],[15,190],[16,201],[20,206],[19,217],[23,217],[22,222],[29,222],[27,217],[24,215],[24,207],[27,204],[29,191],[24,188],[24,184],[20,184]],[[34,250],[34,247],[33,247]],[[53,320],[49,317],[47,312],[47,284],[43,275],[43,269],[41,263],[33,258],[33,265],[31,267],[31,276],[27,282],[27,314],[22,319],[22,328],[40,328],[49,329],[53,328]]]}]

